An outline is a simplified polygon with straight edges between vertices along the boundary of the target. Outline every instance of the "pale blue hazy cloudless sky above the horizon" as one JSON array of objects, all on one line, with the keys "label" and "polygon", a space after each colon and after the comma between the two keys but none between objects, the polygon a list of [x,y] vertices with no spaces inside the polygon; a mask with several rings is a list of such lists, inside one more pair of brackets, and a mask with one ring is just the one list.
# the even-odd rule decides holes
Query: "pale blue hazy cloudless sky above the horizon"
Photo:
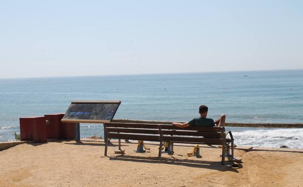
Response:
[{"label": "pale blue hazy cloudless sky above the horizon", "polygon": [[0,78],[301,68],[300,0],[0,1]]}]

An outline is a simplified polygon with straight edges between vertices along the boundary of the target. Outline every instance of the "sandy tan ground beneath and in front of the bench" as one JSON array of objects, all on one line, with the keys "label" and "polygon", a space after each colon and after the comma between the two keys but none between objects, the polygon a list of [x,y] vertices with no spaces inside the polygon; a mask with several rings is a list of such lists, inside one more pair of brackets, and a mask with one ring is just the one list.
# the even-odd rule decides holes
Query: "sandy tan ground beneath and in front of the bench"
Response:
[{"label": "sandy tan ground beneath and in front of the bench", "polygon": [[[174,147],[174,155],[147,144],[117,142],[104,156],[102,140],[22,144],[0,151],[0,187],[303,187],[303,150],[236,150],[243,163],[221,166],[218,148],[202,147],[202,158],[188,157],[193,145]],[[228,163],[227,163],[228,164]]]}]

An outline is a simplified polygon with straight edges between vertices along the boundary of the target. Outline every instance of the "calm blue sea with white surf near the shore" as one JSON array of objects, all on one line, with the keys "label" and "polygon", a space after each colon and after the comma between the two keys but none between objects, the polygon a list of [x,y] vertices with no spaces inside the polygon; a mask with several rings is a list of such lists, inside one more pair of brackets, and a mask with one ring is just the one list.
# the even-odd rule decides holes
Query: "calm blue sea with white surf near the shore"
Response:
[{"label": "calm blue sea with white surf near the shore", "polygon": [[[71,101],[121,101],[114,119],[188,121],[205,104],[226,122],[303,123],[303,70],[0,79],[0,141],[15,140],[20,117],[65,113]],[[80,129],[103,136],[102,124]],[[226,129],[238,146],[303,149],[303,128]]]}]

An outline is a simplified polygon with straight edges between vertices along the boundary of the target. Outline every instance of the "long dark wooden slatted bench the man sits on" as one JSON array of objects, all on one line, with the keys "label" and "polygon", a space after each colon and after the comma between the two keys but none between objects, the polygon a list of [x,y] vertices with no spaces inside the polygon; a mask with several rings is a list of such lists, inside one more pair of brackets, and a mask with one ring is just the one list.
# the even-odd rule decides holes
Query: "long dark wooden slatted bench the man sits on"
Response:
[{"label": "long dark wooden slatted bench the man sits on", "polygon": [[[225,133],[224,127],[198,127],[191,126],[186,128],[178,128],[173,125],[166,124],[146,124],[146,123],[104,123],[106,133],[105,152],[107,155],[108,141],[111,138],[119,140],[119,150],[121,148],[120,139],[144,140],[160,142],[158,159],[161,159],[162,142],[171,142],[172,151],[173,143],[186,144],[206,144],[222,146],[222,161],[225,162],[225,148],[231,143],[231,157],[234,157],[234,139],[229,131]],[[226,138],[230,135],[230,138]]]}]

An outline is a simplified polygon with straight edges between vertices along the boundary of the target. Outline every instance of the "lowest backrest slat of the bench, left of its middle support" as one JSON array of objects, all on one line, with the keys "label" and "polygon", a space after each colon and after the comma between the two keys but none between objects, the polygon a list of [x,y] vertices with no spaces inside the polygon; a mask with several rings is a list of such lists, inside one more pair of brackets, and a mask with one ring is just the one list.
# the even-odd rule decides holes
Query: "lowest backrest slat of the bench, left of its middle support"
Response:
[{"label": "lowest backrest slat of the bench, left of its middle support", "polygon": [[160,136],[155,136],[155,135],[138,135],[138,134],[121,134],[121,133],[108,133],[108,138],[145,140],[145,141],[159,141],[160,140]]}]

